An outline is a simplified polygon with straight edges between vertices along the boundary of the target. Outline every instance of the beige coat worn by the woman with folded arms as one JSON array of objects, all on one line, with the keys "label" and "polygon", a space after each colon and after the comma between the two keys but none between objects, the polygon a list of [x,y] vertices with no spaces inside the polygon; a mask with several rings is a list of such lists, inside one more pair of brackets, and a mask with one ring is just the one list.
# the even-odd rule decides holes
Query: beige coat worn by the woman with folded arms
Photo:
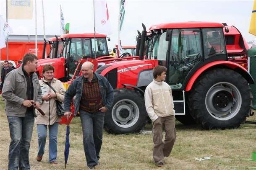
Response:
[{"label": "beige coat worn by the woman with folded arms", "polygon": [[[42,96],[45,95],[45,93],[53,92],[49,85],[44,83],[44,79],[39,80],[39,84],[41,86]],[[60,121],[60,117],[56,112],[57,107],[55,100],[63,102],[65,96],[65,88],[62,82],[56,78],[53,78],[50,84],[55,89],[57,98],[51,98],[49,101],[42,100],[43,103],[41,104],[40,108],[42,111],[44,111],[45,115],[42,116],[42,114],[37,111],[36,124],[52,125]]]}]

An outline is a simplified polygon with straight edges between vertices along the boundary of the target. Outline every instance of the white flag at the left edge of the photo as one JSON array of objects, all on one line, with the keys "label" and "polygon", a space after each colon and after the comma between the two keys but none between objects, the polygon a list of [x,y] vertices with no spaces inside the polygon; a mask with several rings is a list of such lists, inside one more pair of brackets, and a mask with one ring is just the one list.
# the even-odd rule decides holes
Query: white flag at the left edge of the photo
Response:
[{"label": "white flag at the left edge of the photo", "polygon": [[5,41],[12,32],[13,29],[4,21],[3,16],[0,15],[0,49],[6,47]]}]

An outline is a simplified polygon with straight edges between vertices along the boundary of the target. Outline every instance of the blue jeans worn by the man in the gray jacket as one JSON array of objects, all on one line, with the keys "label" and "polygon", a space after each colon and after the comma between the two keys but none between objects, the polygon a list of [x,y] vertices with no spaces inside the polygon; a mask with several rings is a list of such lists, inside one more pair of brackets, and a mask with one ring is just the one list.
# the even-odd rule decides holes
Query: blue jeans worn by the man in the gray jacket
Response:
[{"label": "blue jeans worn by the man in the gray jacket", "polygon": [[29,148],[33,133],[34,116],[7,116],[10,129],[9,170],[30,170]]}]

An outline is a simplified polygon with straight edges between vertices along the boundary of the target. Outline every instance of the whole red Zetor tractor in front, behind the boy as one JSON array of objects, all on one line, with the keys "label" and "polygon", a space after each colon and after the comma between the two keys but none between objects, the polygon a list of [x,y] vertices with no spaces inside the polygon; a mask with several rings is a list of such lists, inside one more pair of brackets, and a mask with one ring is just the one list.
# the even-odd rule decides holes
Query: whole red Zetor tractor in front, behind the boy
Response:
[{"label": "whole red Zetor tractor in front, behind the boy", "polygon": [[166,82],[180,122],[196,122],[204,129],[243,124],[253,98],[248,83],[254,81],[244,67],[229,61],[223,28],[212,22],[164,23],[150,27],[151,36],[144,28],[138,60],[112,62],[97,70],[115,89],[105,130],[126,134],[144,127],[148,121],[144,90],[157,65],[167,67]]}]

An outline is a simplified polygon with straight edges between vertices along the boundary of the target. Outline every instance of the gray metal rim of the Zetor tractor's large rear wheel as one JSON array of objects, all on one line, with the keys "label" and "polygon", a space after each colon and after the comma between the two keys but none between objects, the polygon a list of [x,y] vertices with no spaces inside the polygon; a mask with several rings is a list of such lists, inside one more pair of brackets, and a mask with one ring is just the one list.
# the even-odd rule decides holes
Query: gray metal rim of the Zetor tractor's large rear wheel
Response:
[{"label": "gray metal rim of the Zetor tractor's large rear wheel", "polygon": [[206,93],[208,113],[218,120],[229,120],[240,111],[242,96],[238,88],[229,82],[218,82]]}]

